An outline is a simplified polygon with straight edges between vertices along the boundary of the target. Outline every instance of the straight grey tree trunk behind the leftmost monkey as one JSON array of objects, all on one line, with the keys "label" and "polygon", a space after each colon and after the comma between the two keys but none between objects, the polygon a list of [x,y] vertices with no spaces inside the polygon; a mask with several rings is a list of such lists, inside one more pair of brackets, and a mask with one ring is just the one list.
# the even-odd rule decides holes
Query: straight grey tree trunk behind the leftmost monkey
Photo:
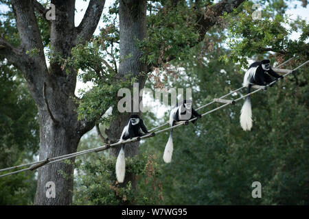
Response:
[{"label": "straight grey tree trunk behind the leftmost monkey", "polygon": [[[147,73],[147,65],[141,62],[141,51],[137,48],[137,40],[142,40],[147,36],[146,27],[146,1],[119,1],[119,38],[120,38],[120,62],[119,74],[123,77],[138,76],[139,89],[144,88],[146,77],[141,73]],[[139,98],[139,102],[141,97]],[[110,139],[119,139],[122,129],[128,123],[132,113],[124,113],[111,122],[111,126],[106,130]],[[136,113],[135,113],[136,114]],[[140,113],[139,113],[140,114]],[[126,144],[124,151],[126,157],[138,155],[139,142]],[[117,156],[120,146],[110,149],[110,155]],[[137,187],[135,175],[126,172],[126,177],[122,186],[126,186],[128,181],[132,182],[133,188]]]}]

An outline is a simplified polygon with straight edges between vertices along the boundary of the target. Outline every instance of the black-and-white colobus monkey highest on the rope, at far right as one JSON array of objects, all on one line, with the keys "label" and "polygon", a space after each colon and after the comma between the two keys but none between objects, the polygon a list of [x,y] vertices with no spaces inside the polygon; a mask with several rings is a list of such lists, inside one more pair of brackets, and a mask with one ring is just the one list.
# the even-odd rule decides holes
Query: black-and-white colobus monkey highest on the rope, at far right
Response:
[{"label": "black-and-white colobus monkey highest on the rope, at far right", "polygon": [[[263,60],[262,62],[254,62],[249,66],[249,69],[244,74],[244,82],[242,86],[247,87],[247,93],[249,94],[251,86],[257,84],[260,86],[266,86],[268,83],[274,81],[272,77],[282,78],[271,69],[271,64],[269,60]],[[242,106],[240,114],[240,125],[244,131],[250,131],[252,128],[252,111],[251,111],[251,101],[250,96],[244,99],[244,105]]]}]

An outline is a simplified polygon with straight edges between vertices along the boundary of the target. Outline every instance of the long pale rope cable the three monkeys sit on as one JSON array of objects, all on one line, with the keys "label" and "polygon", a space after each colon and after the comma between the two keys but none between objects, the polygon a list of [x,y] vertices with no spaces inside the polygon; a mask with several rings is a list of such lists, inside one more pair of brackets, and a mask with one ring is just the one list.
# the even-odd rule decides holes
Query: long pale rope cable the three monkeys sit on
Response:
[{"label": "long pale rope cable the three monkeys sit on", "polygon": [[[290,58],[290,60],[292,60],[293,58],[294,58],[294,57]],[[279,66],[282,66],[283,64],[286,64],[286,63],[287,63],[288,61],[290,61],[290,60],[287,60],[286,62],[280,64]],[[293,70],[290,70],[290,71],[289,71],[288,73],[286,73],[285,75],[282,75],[282,77],[286,77],[286,76],[289,75],[290,73],[293,73],[295,70],[297,70],[298,68],[301,68],[301,66],[304,66],[304,65],[307,64],[308,62],[309,62],[309,60],[308,60],[307,62],[304,62],[304,63],[301,64],[300,66],[297,66],[297,68],[295,68],[295,69],[293,69]],[[277,68],[278,68],[279,66],[277,66]],[[264,86],[264,87],[271,86],[271,85],[273,85],[274,83],[276,83],[276,82],[279,81],[279,80],[280,80],[280,79],[277,79],[277,80],[275,80],[275,81],[273,81],[273,82],[271,82],[271,83],[268,83],[268,85],[266,85],[266,86]],[[244,99],[245,97],[247,97],[247,96],[249,96],[249,95],[251,95],[251,94],[254,94],[255,92],[259,92],[260,90],[264,90],[264,87],[263,87],[263,88],[259,88],[258,90],[255,90],[255,91],[253,91],[253,92],[250,92],[249,94],[246,94],[246,95],[244,95],[244,96],[241,96],[240,98],[235,99],[235,100],[233,100],[233,101],[235,101],[235,102],[236,102],[236,101],[240,101],[240,99]],[[242,87],[242,88],[243,88],[243,87]],[[221,96],[220,99],[222,99],[222,98],[224,98],[224,97],[226,97],[226,96],[229,96],[229,95],[232,94],[233,92],[236,92],[236,91],[238,91],[238,90],[241,90],[242,88],[238,88],[237,90],[233,90],[233,91],[230,92],[229,94],[225,94],[224,96]],[[199,109],[201,109],[201,108],[203,108],[203,107],[205,107],[205,106],[207,106],[207,105],[210,105],[211,103],[214,103],[214,102],[215,102],[215,101],[211,101],[210,103],[207,103],[206,105],[203,105],[203,106],[199,107],[197,110],[199,110]],[[205,112],[205,113],[202,114],[201,116],[205,116],[205,115],[207,115],[207,114],[210,114],[211,112],[215,112],[216,110],[219,110],[219,109],[221,109],[222,107],[226,107],[227,105],[230,105],[231,103],[233,103],[233,102],[230,101],[229,103],[225,103],[224,105],[221,105],[220,107],[216,107],[214,110],[210,110],[209,112]],[[197,118],[192,118],[191,120],[189,120],[189,122],[191,122],[191,121],[193,121],[193,120],[196,120],[196,119],[197,119]],[[164,125],[166,125],[166,124],[160,125],[159,127],[163,127]],[[67,154],[67,155],[61,155],[61,156],[58,156],[58,157],[51,157],[51,158],[47,158],[47,159],[45,159],[45,160],[41,160],[41,161],[38,161],[38,162],[32,162],[32,163],[30,163],[30,164],[22,164],[22,165],[19,165],[19,166],[12,166],[12,167],[10,167],[10,168],[1,169],[0,171],[11,170],[11,169],[13,169],[13,168],[19,168],[19,167],[30,166],[30,165],[35,165],[35,164],[38,164],[38,167],[41,167],[41,166],[44,166],[44,165],[46,165],[46,164],[52,164],[52,163],[54,163],[54,162],[60,162],[60,161],[62,161],[62,160],[64,160],[64,159],[70,159],[70,158],[72,158],[72,157],[77,157],[77,156],[79,156],[79,155],[84,155],[84,154],[92,153],[92,152],[104,151],[104,150],[106,150],[106,149],[111,148],[112,146],[116,146],[116,145],[119,145],[119,144],[126,144],[126,143],[129,143],[129,142],[137,142],[137,141],[139,141],[139,140],[141,140],[141,139],[143,139],[143,138],[150,138],[150,137],[153,137],[153,136],[155,136],[157,133],[161,133],[161,132],[163,132],[163,131],[168,131],[168,130],[170,130],[170,129],[174,129],[175,127],[179,127],[179,126],[181,126],[181,125],[187,125],[187,121],[181,122],[181,123],[179,123],[179,124],[177,124],[177,125],[174,125],[174,126],[172,126],[172,127],[168,127],[168,128],[166,128],[166,129],[161,129],[160,131],[157,131],[157,132],[155,132],[155,133],[149,133],[149,134],[146,134],[146,135],[141,136],[141,137],[133,138],[133,139],[131,139],[131,140],[124,140],[124,141],[122,141],[122,142],[116,142],[116,143],[113,143],[113,144],[106,144],[106,145],[104,145],[104,146],[99,146],[99,147],[97,147],[97,148],[95,148],[95,149],[88,149],[88,150],[79,151],[79,152],[76,152],[76,153],[71,153],[71,154]],[[154,128],[154,129],[157,129],[157,128],[159,128],[159,127],[156,127],[156,128]],[[154,129],[151,129],[150,132],[153,131]],[[41,165],[40,165],[40,164],[41,164]],[[38,168],[38,167],[36,167],[36,168]],[[1,177],[5,177],[5,176],[7,176],[7,175],[12,175],[12,174],[14,174],[14,173],[23,172],[23,171],[26,171],[26,170],[35,170],[36,168],[35,168],[35,167],[34,167],[34,168],[30,167],[30,168],[24,168],[24,169],[22,169],[22,170],[17,170],[17,171],[14,171],[14,172],[9,172],[9,173],[6,173],[6,174],[4,174],[4,175],[0,175],[0,178],[1,178]]]}]

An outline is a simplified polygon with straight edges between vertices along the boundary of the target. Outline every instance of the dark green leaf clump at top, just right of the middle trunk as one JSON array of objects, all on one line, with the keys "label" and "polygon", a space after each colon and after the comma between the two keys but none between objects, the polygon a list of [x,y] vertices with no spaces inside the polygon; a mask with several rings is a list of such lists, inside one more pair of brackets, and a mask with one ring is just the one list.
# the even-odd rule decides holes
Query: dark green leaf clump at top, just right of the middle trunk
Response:
[{"label": "dark green leaf clump at top, just right of the middle trunk", "polygon": [[157,3],[153,14],[148,16],[149,37],[139,44],[146,51],[142,59],[155,65],[174,57],[184,59],[198,40],[194,10],[185,1]]}]

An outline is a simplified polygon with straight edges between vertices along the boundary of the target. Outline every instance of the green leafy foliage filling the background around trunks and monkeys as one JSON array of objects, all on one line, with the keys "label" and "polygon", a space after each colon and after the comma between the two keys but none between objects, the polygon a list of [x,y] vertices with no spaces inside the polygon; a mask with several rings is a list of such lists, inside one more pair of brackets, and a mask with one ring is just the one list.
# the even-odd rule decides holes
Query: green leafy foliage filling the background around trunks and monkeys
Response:
[{"label": "green leafy foliage filling the background around trunks and monkeys", "polygon": [[[10,1],[0,1],[10,5]],[[45,1],[44,1],[45,2]],[[252,17],[253,3],[262,5],[261,19]],[[210,1],[148,1],[148,37],[135,45],[141,59],[152,67],[146,88],[192,88],[194,107],[242,86],[244,70],[253,60],[268,58],[293,69],[308,60],[308,22],[290,20],[285,11],[298,1],[244,1],[232,13],[214,23]],[[306,7],[305,1],[303,1]],[[214,8],[212,8],[213,11]],[[43,47],[49,60],[62,70],[76,70],[91,92],[78,103],[78,118],[100,123],[101,132],[111,119],[102,118],[108,107],[117,108],[117,90],[137,77],[115,84],[119,61],[119,2],[104,14],[104,28],[86,44],[76,44],[69,57],[51,54],[47,21],[37,15]],[[209,14],[210,13],[210,14]],[[12,10],[1,14],[1,34],[19,44]],[[205,33],[205,38],[201,37]],[[291,38],[298,32],[298,38]],[[0,47],[1,49],[1,47]],[[37,51],[27,51],[36,55]],[[78,71],[79,70],[79,71]],[[141,73],[143,75],[144,73]],[[115,179],[115,158],[95,153],[77,159],[73,204],[164,204],[164,205],[308,205],[308,66],[297,70],[265,92],[252,96],[253,129],[239,124],[242,101],[174,129],[174,153],[163,163],[168,132],[142,141],[139,155],[128,158],[126,171],[137,177],[121,187]],[[0,168],[32,160],[38,151],[37,109],[25,88],[21,73],[0,57]],[[242,95],[240,92],[233,98]],[[155,101],[155,99],[153,99]],[[201,112],[211,110],[215,105]],[[168,109],[168,107],[166,108]],[[113,110],[113,118],[117,118]],[[145,113],[148,128],[168,120]],[[102,144],[96,133],[80,142],[79,151]],[[60,170],[61,172],[61,170]],[[64,176],[67,177],[67,176]],[[262,184],[262,198],[251,196],[254,181]],[[29,204],[35,191],[33,173],[0,179],[0,204]]]}]

